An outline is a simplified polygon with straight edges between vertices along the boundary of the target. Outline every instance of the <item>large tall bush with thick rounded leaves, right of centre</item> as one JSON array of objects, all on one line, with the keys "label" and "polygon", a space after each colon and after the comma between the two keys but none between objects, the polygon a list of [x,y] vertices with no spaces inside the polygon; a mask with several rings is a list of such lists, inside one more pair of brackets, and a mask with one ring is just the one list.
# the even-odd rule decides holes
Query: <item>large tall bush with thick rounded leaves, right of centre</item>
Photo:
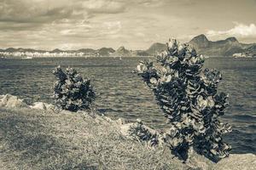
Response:
[{"label": "large tall bush with thick rounded leaves, right of centre", "polygon": [[218,118],[224,115],[228,96],[218,94],[219,71],[202,71],[203,63],[195,48],[170,40],[157,62],[140,62],[137,73],[153,89],[171,123],[167,141],[172,153],[187,160],[189,150],[195,150],[218,161],[231,149],[222,138],[231,131],[230,126]]}]

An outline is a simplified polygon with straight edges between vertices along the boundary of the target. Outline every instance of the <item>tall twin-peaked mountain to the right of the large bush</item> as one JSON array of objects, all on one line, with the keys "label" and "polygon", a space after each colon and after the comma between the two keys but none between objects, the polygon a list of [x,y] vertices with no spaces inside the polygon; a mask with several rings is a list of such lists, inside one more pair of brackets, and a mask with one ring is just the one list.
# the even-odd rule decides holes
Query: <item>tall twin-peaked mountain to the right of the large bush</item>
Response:
[{"label": "tall twin-peaked mountain to the right of the large bush", "polygon": [[216,42],[209,41],[203,34],[192,38],[188,42],[193,46],[198,54],[205,54],[211,56],[231,56],[237,53],[255,53],[256,50],[253,48],[255,44],[245,44],[238,42],[236,37],[229,37],[224,40]]}]

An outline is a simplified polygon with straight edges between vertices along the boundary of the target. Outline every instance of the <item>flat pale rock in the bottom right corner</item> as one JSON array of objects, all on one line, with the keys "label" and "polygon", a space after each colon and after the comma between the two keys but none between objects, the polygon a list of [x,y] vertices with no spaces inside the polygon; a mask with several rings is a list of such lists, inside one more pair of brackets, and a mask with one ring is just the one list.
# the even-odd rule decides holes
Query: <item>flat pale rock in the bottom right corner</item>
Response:
[{"label": "flat pale rock in the bottom right corner", "polygon": [[256,155],[231,154],[218,161],[214,170],[254,170],[256,169]]}]

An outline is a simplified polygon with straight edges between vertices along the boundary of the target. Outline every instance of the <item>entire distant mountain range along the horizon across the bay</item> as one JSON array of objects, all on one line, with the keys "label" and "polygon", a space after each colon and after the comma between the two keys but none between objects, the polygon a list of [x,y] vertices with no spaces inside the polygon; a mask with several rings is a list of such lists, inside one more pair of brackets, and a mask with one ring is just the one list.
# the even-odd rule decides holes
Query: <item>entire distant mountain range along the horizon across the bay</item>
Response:
[{"label": "entire distant mountain range along the horizon across the bay", "polygon": [[[193,46],[198,54],[204,54],[208,56],[231,56],[233,54],[247,54],[256,56],[256,43],[241,43],[238,42],[236,37],[229,37],[224,40],[210,41],[208,38],[201,34],[192,38],[189,42]],[[129,50],[125,47],[120,47],[117,50],[113,48],[81,48],[79,50],[61,50],[54,49],[52,51],[36,50],[32,48],[6,48],[0,49],[0,52],[30,52],[30,53],[84,53],[93,56],[153,56],[166,49],[166,43],[155,42],[146,50]]]}]

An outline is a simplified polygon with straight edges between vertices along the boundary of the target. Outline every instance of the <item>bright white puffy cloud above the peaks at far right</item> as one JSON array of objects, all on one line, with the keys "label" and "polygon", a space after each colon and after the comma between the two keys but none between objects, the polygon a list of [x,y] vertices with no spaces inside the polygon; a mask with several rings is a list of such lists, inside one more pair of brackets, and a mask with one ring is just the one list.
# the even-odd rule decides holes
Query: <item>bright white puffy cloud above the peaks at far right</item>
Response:
[{"label": "bright white puffy cloud above the peaks at far right", "polygon": [[235,23],[236,26],[227,31],[207,31],[209,37],[219,36],[234,36],[234,37],[256,37],[256,26],[252,23],[250,25],[244,25],[241,23]]}]

